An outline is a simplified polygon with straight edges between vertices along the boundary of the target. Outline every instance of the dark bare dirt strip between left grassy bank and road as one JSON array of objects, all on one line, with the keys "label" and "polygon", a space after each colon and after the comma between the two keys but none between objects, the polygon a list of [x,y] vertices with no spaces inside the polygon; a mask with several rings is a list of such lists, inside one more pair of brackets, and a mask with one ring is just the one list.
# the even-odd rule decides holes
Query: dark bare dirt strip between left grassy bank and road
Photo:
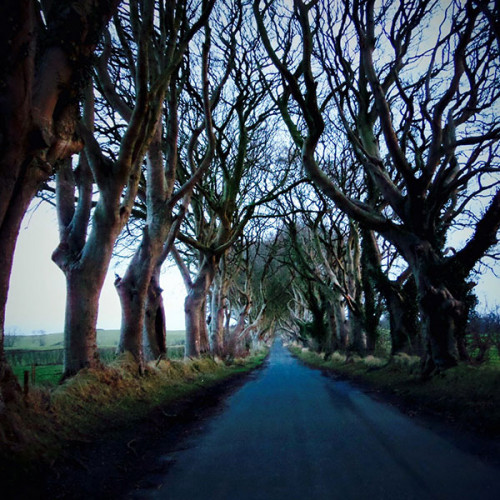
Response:
[{"label": "dark bare dirt strip between left grassy bank and road", "polygon": [[[140,478],[161,472],[154,458],[177,451],[180,443],[203,429],[204,422],[223,408],[226,398],[255,376],[235,374],[209,388],[155,409],[146,419],[110,429],[86,442],[65,445],[63,455],[51,465],[26,471],[21,481],[2,483],[7,499],[114,499],[143,487]],[[168,463],[161,467],[166,471]]]}]

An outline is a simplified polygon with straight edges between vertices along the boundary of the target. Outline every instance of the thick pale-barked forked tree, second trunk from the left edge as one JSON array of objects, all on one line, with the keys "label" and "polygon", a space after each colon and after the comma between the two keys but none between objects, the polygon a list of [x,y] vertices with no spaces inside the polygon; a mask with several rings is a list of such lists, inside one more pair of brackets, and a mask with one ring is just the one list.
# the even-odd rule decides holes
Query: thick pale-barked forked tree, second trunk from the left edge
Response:
[{"label": "thick pale-barked forked tree, second trunk from the left edge", "polygon": [[[131,4],[132,8],[134,5]],[[132,211],[142,162],[155,135],[161,103],[177,67],[169,65],[159,75],[151,70],[155,2],[148,0],[141,7],[140,29],[135,33],[136,97],[117,155],[103,154],[94,136],[94,92],[89,86],[84,120],[79,126],[85,149],[75,171],[71,161],[65,161],[57,174],[61,242],[54,251],[53,260],[64,272],[67,283],[65,376],[99,364],[96,346],[99,295],[114,243]],[[100,196],[92,212],[94,182]],[[79,193],[76,207],[75,189]]]}]

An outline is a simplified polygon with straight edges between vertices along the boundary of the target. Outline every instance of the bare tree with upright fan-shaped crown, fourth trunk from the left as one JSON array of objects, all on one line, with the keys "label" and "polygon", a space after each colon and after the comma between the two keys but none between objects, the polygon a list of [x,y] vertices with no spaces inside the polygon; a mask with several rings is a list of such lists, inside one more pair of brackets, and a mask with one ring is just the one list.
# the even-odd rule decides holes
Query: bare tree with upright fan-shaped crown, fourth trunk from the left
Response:
[{"label": "bare tree with upright fan-shaped crown, fourth trunk from the left", "polygon": [[[180,242],[195,252],[191,259],[195,265],[190,268],[179,252],[174,253],[188,290],[187,356],[198,356],[210,347],[214,352],[222,349],[223,313],[215,309],[224,310],[225,289],[212,292],[219,304],[213,305],[211,339],[206,323],[207,296],[220,262],[259,207],[288,187],[287,172],[273,172],[280,148],[271,152],[272,114],[265,100],[266,89],[255,78],[263,54],[257,50],[255,33],[245,22],[240,2],[231,9],[214,16],[212,23],[211,57],[218,61],[213,71],[230,68],[221,91],[223,105],[214,113],[215,156],[207,175],[194,189],[191,210],[178,234]],[[196,93],[191,95],[196,101]],[[221,280],[216,285],[225,287]]]}]

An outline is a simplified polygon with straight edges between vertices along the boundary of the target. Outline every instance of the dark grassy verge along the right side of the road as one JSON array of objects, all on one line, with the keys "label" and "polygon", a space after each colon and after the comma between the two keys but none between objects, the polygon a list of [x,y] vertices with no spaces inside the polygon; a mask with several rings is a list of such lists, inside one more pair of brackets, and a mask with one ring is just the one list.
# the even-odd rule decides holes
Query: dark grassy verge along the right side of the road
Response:
[{"label": "dark grassy verge along the right side of the road", "polygon": [[380,392],[404,411],[431,414],[442,420],[500,437],[500,369],[497,365],[460,364],[430,380],[420,377],[420,359],[398,355],[390,360],[368,356],[346,363],[297,346],[292,354],[306,364],[329,370]]}]

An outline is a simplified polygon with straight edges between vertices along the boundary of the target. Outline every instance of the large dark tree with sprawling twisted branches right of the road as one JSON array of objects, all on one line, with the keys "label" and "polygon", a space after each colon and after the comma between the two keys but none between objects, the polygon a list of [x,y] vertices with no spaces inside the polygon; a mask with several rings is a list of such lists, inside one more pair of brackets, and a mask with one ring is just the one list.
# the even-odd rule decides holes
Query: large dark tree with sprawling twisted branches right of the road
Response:
[{"label": "large dark tree with sprawling twisted branches right of the road", "polygon": [[[260,4],[258,29],[282,79],[277,100],[306,172],[408,262],[426,372],[455,365],[467,278],[500,225],[498,44],[488,16],[473,1]],[[325,126],[343,129],[382,210],[328,175]],[[454,221],[471,213],[472,237],[446,254]]]}]

